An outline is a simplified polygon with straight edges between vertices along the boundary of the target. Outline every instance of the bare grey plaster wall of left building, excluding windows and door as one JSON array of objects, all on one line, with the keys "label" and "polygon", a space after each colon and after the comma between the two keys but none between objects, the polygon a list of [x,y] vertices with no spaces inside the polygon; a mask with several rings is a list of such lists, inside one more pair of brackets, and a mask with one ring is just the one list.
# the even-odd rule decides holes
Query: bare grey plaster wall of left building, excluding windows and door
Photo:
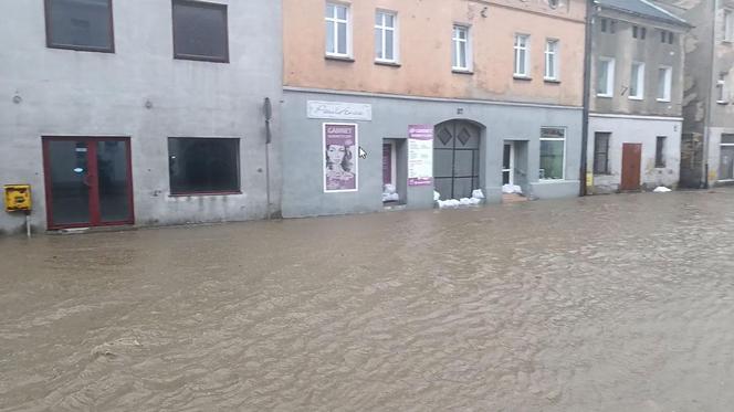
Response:
[{"label": "bare grey plaster wall of left building, excluding windows and door", "polygon": [[[273,99],[277,119],[280,2],[216,2],[229,4],[229,64],[172,59],[169,0],[114,1],[114,54],[48,49],[43,1],[0,3],[0,183],[33,186],[36,229],[46,226],[44,135],[130,137],[139,225],[265,216],[262,102]],[[277,165],[277,122],[274,131],[271,163]],[[169,197],[169,136],[241,138],[242,193]],[[277,168],[272,181],[279,204]],[[0,214],[2,231],[15,231],[22,222],[20,215]]]}]

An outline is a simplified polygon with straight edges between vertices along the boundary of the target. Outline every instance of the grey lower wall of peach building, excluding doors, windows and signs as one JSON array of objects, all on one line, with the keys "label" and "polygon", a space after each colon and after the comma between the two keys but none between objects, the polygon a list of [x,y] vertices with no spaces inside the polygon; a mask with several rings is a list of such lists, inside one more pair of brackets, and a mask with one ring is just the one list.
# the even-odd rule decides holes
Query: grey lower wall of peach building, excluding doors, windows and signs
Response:
[{"label": "grey lower wall of peach building, excluding doors, windows and signs", "polygon": [[[324,193],[322,125],[307,118],[308,101],[370,104],[373,119],[359,125],[359,146],[367,158],[359,160],[357,192]],[[283,215],[286,218],[375,212],[382,210],[382,139],[405,139],[409,125],[438,125],[466,119],[482,127],[482,189],[490,202],[501,201],[502,150],[505,140],[527,142],[527,172],[531,197],[545,199],[578,193],[581,112],[576,107],[518,106],[479,101],[427,99],[350,93],[319,93],[287,89],[283,105]],[[566,128],[565,180],[538,181],[539,135],[544,126]],[[433,207],[432,187],[409,187],[408,209]]]}]

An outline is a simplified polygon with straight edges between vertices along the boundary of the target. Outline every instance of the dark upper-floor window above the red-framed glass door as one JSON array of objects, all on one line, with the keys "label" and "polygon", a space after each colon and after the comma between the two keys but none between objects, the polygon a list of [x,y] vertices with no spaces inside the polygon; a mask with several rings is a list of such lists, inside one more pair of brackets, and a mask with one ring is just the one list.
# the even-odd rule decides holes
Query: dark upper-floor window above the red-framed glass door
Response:
[{"label": "dark upper-floor window above the red-framed glass door", "polygon": [[46,45],[115,52],[112,0],[46,0]]}]

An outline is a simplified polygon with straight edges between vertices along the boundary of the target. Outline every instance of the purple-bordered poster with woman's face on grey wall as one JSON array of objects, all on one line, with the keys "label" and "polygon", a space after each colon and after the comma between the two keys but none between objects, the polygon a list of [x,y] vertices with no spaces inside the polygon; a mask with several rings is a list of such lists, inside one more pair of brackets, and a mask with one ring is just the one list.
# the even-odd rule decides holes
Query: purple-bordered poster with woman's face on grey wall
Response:
[{"label": "purple-bordered poster with woman's face on grey wall", "polygon": [[324,124],[324,191],[357,190],[357,125]]}]

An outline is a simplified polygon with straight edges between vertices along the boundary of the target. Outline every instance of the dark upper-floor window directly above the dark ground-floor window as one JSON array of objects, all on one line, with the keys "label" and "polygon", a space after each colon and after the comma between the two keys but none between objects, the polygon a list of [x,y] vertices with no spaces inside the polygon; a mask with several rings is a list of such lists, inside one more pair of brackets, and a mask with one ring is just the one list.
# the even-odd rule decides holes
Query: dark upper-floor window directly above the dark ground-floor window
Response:
[{"label": "dark upper-floor window directly above the dark ground-floor window", "polygon": [[174,0],[174,57],[228,63],[227,4]]}]

